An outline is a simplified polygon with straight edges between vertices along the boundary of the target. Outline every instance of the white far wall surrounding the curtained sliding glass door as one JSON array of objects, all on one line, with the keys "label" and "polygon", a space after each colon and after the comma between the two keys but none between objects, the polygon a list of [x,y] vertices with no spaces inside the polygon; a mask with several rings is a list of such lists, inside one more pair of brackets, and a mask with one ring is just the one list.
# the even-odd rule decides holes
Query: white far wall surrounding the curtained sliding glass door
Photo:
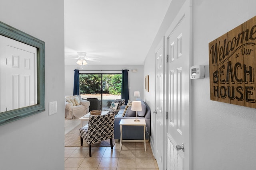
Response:
[{"label": "white far wall surrounding the curtained sliding glass door", "polygon": [[[140,98],[143,99],[144,78],[143,65],[86,65],[81,69],[79,66],[65,65],[65,95],[73,95],[74,87],[74,69],[81,70],[125,70],[128,69],[128,84],[130,100],[136,100],[134,91],[140,91]],[[132,69],[137,69],[137,72],[132,72]]]}]

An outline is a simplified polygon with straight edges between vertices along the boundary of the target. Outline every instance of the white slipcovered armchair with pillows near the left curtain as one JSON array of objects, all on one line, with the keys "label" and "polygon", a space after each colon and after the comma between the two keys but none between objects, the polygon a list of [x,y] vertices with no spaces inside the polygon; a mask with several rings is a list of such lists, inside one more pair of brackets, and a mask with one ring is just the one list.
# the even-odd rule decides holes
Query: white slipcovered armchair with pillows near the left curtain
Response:
[{"label": "white slipcovered armchair with pillows near the left curtain", "polygon": [[81,96],[65,96],[65,118],[80,118],[89,113],[90,102]]}]

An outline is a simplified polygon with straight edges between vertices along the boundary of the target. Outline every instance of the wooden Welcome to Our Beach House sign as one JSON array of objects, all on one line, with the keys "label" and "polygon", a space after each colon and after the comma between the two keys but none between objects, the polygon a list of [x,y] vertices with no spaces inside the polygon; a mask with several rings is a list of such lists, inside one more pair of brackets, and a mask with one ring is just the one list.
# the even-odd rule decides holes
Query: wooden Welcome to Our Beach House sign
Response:
[{"label": "wooden Welcome to Our Beach House sign", "polygon": [[256,108],[256,16],[209,43],[211,100]]}]

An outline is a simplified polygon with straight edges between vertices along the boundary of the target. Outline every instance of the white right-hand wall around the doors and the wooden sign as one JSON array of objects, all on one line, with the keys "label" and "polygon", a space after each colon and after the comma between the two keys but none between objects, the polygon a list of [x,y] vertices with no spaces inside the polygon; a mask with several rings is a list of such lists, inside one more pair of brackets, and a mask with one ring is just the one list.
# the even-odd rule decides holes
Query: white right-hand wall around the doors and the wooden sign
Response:
[{"label": "white right-hand wall around the doors and the wooden sign", "polygon": [[[144,75],[150,75],[152,84],[144,99],[151,110],[154,110],[155,75],[151,62],[154,50],[180,4],[172,0],[144,62]],[[210,100],[208,60],[208,43],[256,16],[255,6],[255,0],[193,0],[192,64],[205,65],[206,78],[192,80],[192,170],[256,167],[256,109]]]}]

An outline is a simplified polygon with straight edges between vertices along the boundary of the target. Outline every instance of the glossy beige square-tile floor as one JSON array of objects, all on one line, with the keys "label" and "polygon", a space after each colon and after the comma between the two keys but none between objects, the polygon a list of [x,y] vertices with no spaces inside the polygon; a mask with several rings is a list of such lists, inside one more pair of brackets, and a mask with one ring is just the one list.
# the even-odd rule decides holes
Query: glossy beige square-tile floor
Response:
[{"label": "glossy beige square-tile floor", "polygon": [[[72,130],[72,126],[80,124],[79,119],[72,120],[65,119],[65,134]],[[146,143],[146,152],[141,142],[124,142],[122,150],[119,149],[119,142],[113,150],[92,147],[92,157],[89,157],[88,147],[65,147],[65,170],[159,170],[149,142]]]}]

